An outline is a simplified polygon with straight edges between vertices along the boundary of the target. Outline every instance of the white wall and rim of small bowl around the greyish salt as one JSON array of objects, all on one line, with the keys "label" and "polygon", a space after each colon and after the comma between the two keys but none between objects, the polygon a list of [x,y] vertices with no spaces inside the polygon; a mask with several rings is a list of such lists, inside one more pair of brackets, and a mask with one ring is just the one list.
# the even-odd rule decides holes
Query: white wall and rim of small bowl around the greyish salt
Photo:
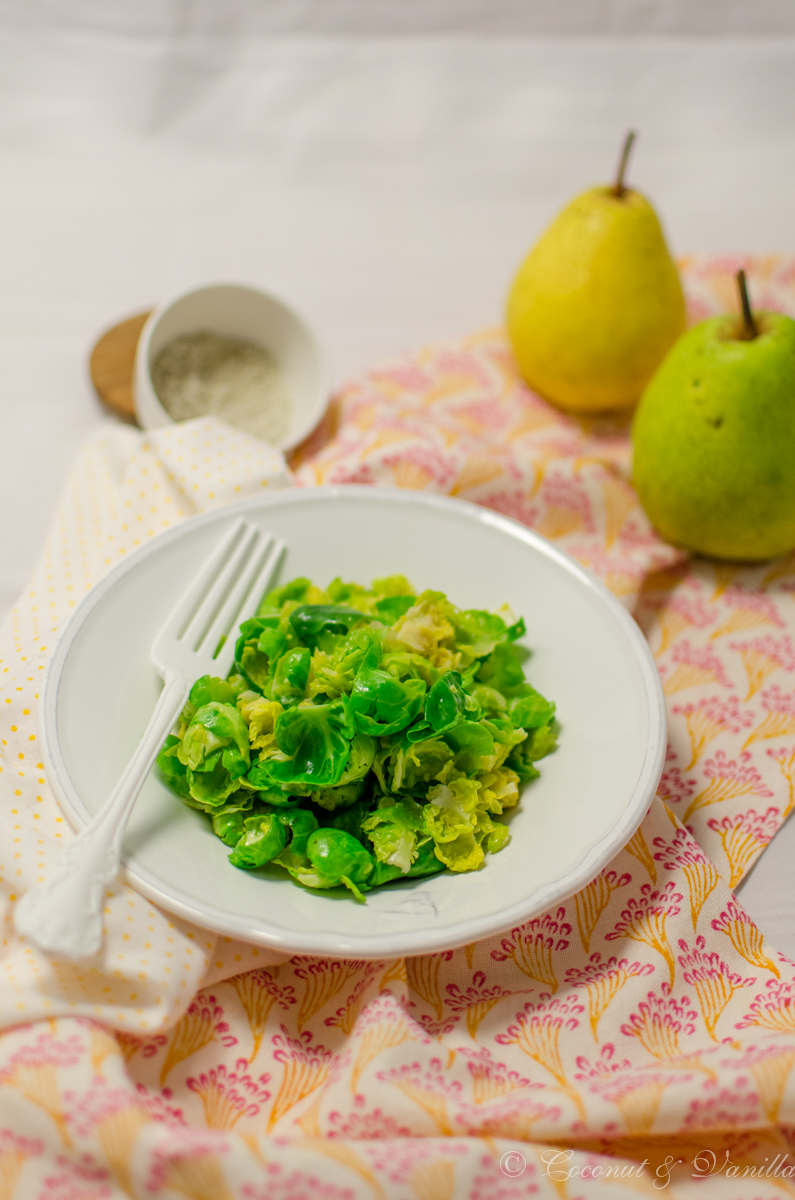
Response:
[{"label": "white wall and rim of small bowl around the greyish salt", "polygon": [[136,350],[133,396],[144,430],[173,425],[151,380],[163,346],[185,334],[210,330],[255,342],[273,355],[292,397],[289,432],[277,445],[293,450],[312,432],[328,404],[329,380],[321,344],[298,313],[277,296],[243,283],[211,283],[159,305],[144,325]]}]

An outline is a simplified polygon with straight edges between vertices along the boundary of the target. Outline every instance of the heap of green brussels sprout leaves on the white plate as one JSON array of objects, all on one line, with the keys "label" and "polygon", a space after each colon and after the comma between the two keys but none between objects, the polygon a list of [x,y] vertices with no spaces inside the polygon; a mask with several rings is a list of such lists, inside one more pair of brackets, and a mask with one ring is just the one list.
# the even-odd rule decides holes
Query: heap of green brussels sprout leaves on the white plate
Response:
[{"label": "heap of green brussels sprout leaves on the white plate", "polygon": [[524,632],[507,610],[461,611],[400,575],[293,580],[240,625],[228,678],[193,684],[157,766],[245,870],[276,864],[357,900],[477,870],[556,745]]}]

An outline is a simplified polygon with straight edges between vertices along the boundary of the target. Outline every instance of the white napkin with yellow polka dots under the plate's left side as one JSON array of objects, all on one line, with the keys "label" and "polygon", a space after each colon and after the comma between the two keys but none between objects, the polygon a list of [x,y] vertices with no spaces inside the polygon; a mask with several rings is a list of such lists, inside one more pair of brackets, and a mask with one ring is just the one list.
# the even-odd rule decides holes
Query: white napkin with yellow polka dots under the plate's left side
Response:
[{"label": "white napkin with yellow polka dots under the plate's left side", "polygon": [[88,589],[120,558],[185,517],[286,487],[282,456],[213,418],[139,433],[109,427],[82,451],[30,587],[0,629],[0,1025],[58,1014],[120,1030],[175,1020],[204,980],[275,961],[169,918],[116,883],[101,961],[50,961],[17,937],[13,904],[56,863],[70,826],[47,786],[37,706],[47,656]]}]

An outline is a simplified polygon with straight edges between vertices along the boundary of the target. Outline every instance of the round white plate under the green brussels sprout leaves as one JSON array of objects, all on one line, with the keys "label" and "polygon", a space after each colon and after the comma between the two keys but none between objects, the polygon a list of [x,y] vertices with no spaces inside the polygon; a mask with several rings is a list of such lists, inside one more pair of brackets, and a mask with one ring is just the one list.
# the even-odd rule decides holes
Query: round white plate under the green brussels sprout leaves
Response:
[{"label": "round white plate under the green brussels sprout leaves", "polygon": [[[282,872],[227,863],[209,823],[155,776],[125,838],[128,881],[171,912],[279,950],[359,959],[422,954],[521,924],[584,887],[635,832],[665,752],[659,677],[627,612],[567,554],[486,509],[425,492],[317,487],[186,521],[112,570],[61,636],[42,696],[48,778],[82,827],[151,714],[149,648],[186,582],[244,512],[289,547],[282,580],[406,575],[464,608],[525,618],[528,677],[555,700],[560,748],[521,798],[512,840],[477,872],[378,888],[359,905]],[[277,877],[280,876],[280,877]]]}]

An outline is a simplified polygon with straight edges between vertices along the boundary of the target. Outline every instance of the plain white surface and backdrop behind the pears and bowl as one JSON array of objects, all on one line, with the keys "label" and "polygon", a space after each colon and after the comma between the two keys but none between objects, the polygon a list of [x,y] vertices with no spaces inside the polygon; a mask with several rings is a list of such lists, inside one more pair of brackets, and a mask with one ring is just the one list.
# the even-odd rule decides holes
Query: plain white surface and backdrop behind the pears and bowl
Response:
[{"label": "plain white surface and backdrop behind the pears and bowl", "polygon": [[[341,382],[498,322],[628,127],[675,251],[795,252],[794,115],[793,0],[0,0],[0,613],[108,324],[249,280]],[[743,900],[795,953],[788,836]]]}]

